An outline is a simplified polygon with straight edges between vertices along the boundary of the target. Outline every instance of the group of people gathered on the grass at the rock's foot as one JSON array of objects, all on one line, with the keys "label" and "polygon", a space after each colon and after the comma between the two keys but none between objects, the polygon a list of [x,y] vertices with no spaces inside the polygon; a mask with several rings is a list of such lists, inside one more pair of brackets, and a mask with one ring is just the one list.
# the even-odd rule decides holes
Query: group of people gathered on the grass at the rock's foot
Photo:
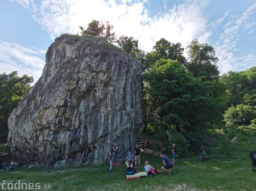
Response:
[{"label": "group of people gathered on the grass at the rock's foot", "polygon": [[[113,168],[113,161],[114,159],[117,159],[117,150],[118,147],[113,147],[112,151],[109,152],[109,162],[110,162],[110,168],[109,172],[112,172]],[[160,157],[162,158],[163,166],[162,166],[162,171],[158,171],[158,169],[155,169],[152,167],[148,161],[145,162],[144,169],[147,172],[148,176],[155,175],[155,173],[158,172],[168,172],[169,174],[172,173],[171,168],[174,167],[175,159],[177,158],[177,147],[176,145],[172,145],[172,160],[168,158],[168,156],[163,155],[163,153],[160,154]],[[134,150],[134,154],[131,151],[127,152],[127,157],[126,157],[126,169],[125,173],[126,175],[134,175],[137,171],[137,164],[139,167],[141,167],[141,149],[136,145],[136,148]]]}]

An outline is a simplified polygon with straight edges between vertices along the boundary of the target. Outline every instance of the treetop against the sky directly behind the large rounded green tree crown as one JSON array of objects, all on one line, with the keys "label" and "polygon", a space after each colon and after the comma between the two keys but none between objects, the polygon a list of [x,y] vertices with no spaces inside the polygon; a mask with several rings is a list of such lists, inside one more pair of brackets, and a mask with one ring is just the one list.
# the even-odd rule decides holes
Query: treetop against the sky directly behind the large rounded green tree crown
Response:
[{"label": "treetop against the sky directly behind the large rounded green tree crown", "polygon": [[183,56],[184,48],[180,43],[170,43],[166,39],[160,39],[155,43],[153,51],[147,53],[145,56],[145,62],[148,68],[155,65],[160,59],[177,60],[181,64],[185,64],[186,59]]}]

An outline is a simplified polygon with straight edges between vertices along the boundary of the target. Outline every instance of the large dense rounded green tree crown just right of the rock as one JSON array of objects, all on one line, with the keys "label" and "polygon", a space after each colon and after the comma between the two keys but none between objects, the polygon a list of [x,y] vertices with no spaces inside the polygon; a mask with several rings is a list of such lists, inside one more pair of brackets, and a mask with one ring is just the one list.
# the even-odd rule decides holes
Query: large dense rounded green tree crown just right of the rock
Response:
[{"label": "large dense rounded green tree crown just right of the rock", "polygon": [[192,77],[177,61],[160,60],[143,75],[147,121],[163,128],[202,130],[220,121],[224,99],[213,82]]}]

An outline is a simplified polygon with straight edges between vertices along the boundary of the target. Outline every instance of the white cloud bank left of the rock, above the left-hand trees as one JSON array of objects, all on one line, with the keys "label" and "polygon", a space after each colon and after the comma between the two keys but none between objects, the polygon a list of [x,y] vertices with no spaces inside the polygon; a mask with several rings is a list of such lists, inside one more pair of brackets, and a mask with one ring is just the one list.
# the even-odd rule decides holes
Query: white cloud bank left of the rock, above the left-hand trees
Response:
[{"label": "white cloud bank left of the rock, above the left-hand trees", "polygon": [[35,82],[42,75],[45,62],[39,57],[46,54],[37,48],[28,49],[18,44],[0,40],[0,73],[10,74],[18,71],[18,75],[27,74],[34,77]]}]

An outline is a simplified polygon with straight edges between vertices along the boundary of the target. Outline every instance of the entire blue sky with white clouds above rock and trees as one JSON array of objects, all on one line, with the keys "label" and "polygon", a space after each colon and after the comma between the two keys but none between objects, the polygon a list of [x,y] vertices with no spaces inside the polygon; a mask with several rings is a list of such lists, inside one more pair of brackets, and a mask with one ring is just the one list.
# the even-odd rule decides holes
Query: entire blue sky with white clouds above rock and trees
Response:
[{"label": "entire blue sky with white clouds above rock and trees", "polygon": [[35,82],[54,39],[92,20],[110,22],[117,37],[134,37],[146,52],[162,37],[183,48],[208,43],[221,74],[256,66],[255,0],[1,0],[0,10],[0,74]]}]

